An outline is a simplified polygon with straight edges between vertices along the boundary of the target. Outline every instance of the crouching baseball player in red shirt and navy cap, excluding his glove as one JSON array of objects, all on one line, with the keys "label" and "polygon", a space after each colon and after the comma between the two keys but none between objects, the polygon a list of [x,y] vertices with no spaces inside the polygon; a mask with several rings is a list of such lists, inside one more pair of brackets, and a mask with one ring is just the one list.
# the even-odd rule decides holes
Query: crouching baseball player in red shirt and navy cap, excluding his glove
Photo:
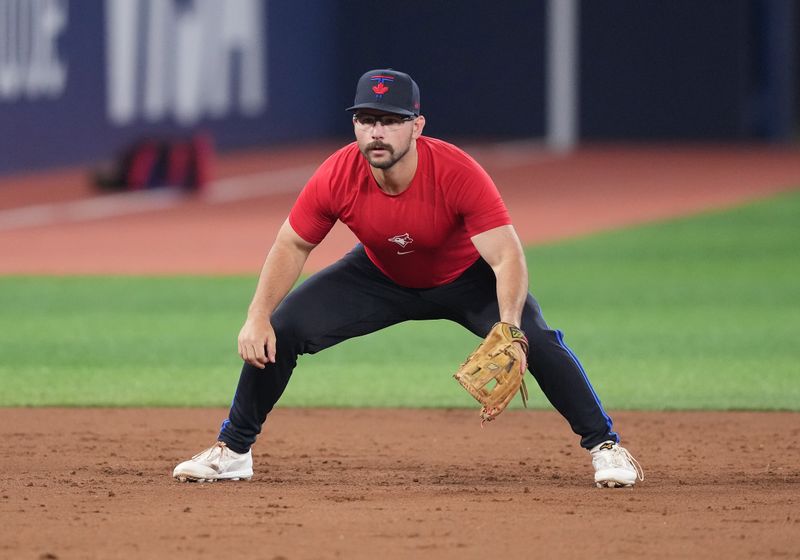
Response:
[{"label": "crouching baseball player in red shirt and navy cap, excluding his glove", "polygon": [[[392,69],[369,71],[347,111],[355,142],[317,169],[264,262],[239,332],[244,366],[218,441],[175,467],[173,476],[252,477],[250,448],[299,355],[402,321],[448,319],[479,337],[493,325],[514,333],[515,367],[524,372],[527,359],[589,450],[597,486],[642,480],[563,334],[548,327],[528,293],[522,246],[491,178],[459,148],[423,136],[414,80]],[[290,291],[337,220],[360,243]]]}]

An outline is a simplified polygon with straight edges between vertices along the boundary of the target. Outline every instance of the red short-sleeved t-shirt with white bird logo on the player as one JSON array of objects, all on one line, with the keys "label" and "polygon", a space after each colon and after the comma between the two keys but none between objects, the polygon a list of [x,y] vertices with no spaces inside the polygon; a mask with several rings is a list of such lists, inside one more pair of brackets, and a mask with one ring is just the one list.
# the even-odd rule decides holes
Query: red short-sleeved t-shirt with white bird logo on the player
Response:
[{"label": "red short-sleeved t-shirt with white bird logo on the player", "polygon": [[289,223],[316,244],[341,220],[375,266],[401,286],[452,282],[478,259],[470,237],[511,218],[489,175],[462,150],[421,136],[417,152],[414,179],[393,196],[378,187],[358,145],[345,146],[308,181]]}]

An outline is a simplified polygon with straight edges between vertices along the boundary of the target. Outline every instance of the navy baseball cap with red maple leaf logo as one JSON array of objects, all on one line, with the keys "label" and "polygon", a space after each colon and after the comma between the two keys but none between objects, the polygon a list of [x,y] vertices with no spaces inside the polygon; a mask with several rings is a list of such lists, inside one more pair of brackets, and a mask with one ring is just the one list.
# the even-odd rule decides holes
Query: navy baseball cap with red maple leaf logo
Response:
[{"label": "navy baseball cap with red maple leaf logo", "polygon": [[411,76],[391,68],[370,70],[358,80],[356,99],[348,111],[376,109],[407,117],[419,116],[419,87]]}]

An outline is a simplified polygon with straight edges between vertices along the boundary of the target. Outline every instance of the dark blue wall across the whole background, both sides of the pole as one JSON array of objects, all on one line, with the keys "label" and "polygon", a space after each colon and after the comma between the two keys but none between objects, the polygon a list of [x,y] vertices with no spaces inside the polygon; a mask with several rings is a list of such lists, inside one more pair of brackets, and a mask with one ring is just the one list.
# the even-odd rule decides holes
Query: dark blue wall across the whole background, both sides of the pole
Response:
[{"label": "dark blue wall across the whole background, both sides of the pole", "polygon": [[[793,138],[792,2],[579,6],[582,139]],[[432,135],[541,137],[547,17],[546,0],[0,0],[0,173],[196,130],[223,151],[347,138],[355,81],[381,66],[418,81]]]}]

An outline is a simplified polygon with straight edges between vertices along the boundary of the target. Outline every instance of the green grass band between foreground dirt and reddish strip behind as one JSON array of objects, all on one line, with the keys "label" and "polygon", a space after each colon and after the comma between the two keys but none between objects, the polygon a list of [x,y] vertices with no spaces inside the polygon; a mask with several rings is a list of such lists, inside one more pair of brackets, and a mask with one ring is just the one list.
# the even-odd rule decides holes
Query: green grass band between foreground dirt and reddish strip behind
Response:
[{"label": "green grass band between foreground dirt and reddish strip behind", "polygon": [[[609,409],[800,410],[799,216],[790,193],[533,247],[532,290]],[[254,286],[0,278],[0,406],[227,406]],[[351,340],[301,357],[281,405],[475,407],[451,373],[477,342],[439,321]]]}]

